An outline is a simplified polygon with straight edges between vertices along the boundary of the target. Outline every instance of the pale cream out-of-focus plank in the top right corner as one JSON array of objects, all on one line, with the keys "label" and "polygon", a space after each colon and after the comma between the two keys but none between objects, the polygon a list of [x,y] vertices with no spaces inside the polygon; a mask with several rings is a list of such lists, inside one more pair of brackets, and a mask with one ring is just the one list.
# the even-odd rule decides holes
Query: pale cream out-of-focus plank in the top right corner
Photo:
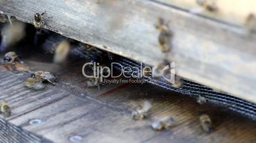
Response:
[{"label": "pale cream out-of-focus plank in the top right corner", "polygon": [[230,23],[231,25],[245,26],[246,18],[248,15],[253,13],[256,15],[256,1],[232,1],[232,0],[213,0],[215,1],[216,11],[208,11],[202,6],[197,4],[198,0],[153,0],[164,4],[170,4],[176,8],[184,9],[185,11],[190,11],[190,13],[195,13],[197,15],[202,15],[204,17],[213,18],[215,20],[220,20],[222,22]]}]

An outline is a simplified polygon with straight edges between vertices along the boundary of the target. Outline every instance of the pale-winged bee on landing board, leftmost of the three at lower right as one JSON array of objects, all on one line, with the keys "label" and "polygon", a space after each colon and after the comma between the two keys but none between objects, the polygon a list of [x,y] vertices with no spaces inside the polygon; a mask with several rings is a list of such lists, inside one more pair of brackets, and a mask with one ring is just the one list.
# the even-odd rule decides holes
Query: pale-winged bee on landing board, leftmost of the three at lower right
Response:
[{"label": "pale-winged bee on landing board, leftmost of the three at lower right", "polygon": [[135,120],[142,120],[143,118],[146,118],[151,108],[152,104],[150,101],[144,101],[142,104],[136,106],[132,111],[132,118]]}]

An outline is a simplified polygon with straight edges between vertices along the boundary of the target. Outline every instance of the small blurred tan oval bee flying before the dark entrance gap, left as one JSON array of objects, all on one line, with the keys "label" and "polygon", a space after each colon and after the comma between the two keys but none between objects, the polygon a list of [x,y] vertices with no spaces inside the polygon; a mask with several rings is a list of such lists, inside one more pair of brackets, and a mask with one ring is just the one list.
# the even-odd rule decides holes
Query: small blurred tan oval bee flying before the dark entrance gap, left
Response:
[{"label": "small blurred tan oval bee flying before the dark entrance gap, left", "polygon": [[60,42],[55,50],[55,54],[53,57],[54,63],[63,63],[68,56],[69,49],[70,44],[68,41],[63,40],[62,42]]}]

